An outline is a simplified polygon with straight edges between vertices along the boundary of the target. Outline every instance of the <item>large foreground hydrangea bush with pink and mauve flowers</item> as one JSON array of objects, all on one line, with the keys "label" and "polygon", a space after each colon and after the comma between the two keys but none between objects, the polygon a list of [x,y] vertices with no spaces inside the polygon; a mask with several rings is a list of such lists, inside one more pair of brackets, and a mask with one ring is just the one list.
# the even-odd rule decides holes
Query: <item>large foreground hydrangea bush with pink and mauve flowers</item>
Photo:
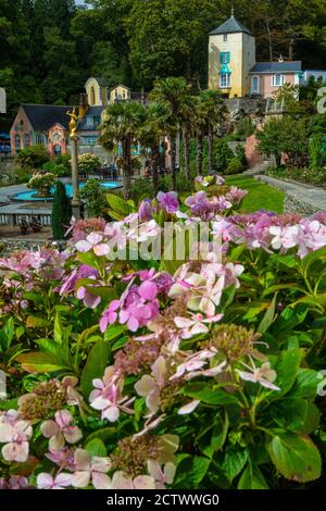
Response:
[{"label": "large foreground hydrangea bush with pink and mauve flowers", "polygon": [[[0,487],[322,484],[326,214],[242,214],[244,195],[112,195],[64,252],[0,261]],[[165,221],[209,221],[205,256],[112,257]]]}]

